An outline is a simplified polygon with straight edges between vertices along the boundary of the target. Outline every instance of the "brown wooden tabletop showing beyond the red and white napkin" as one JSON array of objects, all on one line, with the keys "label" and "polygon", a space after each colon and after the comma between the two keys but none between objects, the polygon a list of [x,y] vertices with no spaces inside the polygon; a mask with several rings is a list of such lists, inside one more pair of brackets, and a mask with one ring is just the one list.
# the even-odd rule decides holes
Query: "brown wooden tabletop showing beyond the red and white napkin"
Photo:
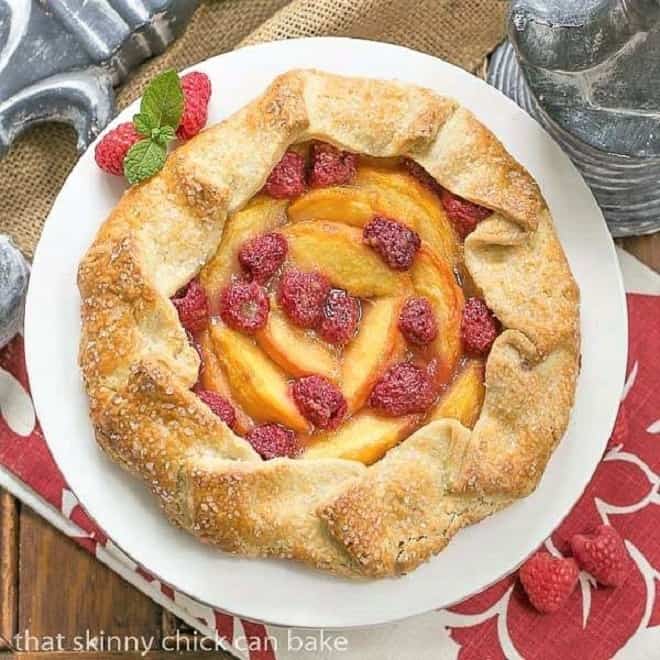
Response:
[{"label": "brown wooden tabletop showing beyond the red and white napkin", "polygon": [[[660,271],[660,234],[619,244]],[[145,636],[156,646],[179,630],[194,648],[194,633],[174,616],[93,559],[27,506],[0,491],[0,660],[9,655],[27,660],[51,655],[12,650],[12,640],[29,629],[39,638],[64,636],[73,648],[76,635],[96,631],[106,636]],[[185,645],[182,645],[185,648]],[[183,653],[186,658],[203,655]],[[59,654],[65,658],[70,652]],[[229,658],[224,653],[216,657]],[[76,653],[76,658],[110,657],[103,652]],[[139,657],[139,654],[113,655]],[[172,657],[155,652],[149,658]],[[208,657],[208,654],[205,655]]]}]

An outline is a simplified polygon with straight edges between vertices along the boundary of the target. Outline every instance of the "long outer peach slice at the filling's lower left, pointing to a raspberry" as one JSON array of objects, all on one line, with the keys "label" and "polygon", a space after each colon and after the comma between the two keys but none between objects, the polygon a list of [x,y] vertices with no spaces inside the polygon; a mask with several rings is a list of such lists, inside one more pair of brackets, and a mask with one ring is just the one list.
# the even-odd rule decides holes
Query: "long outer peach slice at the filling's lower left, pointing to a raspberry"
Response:
[{"label": "long outer peach slice at the filling's lower left, pointing to a raspberry", "polygon": [[250,337],[216,323],[211,326],[211,338],[234,398],[248,415],[301,433],[309,431],[289,395],[286,375]]}]

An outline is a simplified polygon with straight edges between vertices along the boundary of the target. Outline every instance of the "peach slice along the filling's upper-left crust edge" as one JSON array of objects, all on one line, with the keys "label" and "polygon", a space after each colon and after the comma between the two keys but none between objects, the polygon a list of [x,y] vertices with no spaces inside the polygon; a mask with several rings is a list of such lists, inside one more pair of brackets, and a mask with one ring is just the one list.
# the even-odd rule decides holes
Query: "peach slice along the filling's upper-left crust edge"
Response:
[{"label": "peach slice along the filling's upper-left crust edge", "polygon": [[212,314],[218,312],[220,291],[229,282],[232,273],[240,272],[238,251],[241,245],[284,224],[286,205],[287,200],[257,195],[247,206],[227,218],[218,250],[199,274]]}]

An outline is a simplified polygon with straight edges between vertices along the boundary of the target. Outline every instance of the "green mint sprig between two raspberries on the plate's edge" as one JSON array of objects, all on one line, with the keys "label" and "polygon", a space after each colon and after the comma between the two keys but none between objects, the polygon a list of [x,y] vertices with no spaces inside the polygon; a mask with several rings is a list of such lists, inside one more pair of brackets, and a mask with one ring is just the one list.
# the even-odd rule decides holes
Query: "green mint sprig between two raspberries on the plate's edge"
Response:
[{"label": "green mint sprig between two raspberries on the plate's edge", "polygon": [[124,175],[128,182],[138,183],[160,171],[167,158],[167,145],[175,138],[183,114],[184,97],[176,71],[157,75],[147,85],[140,112],[133,126],[143,140],[136,142],[124,159]]}]

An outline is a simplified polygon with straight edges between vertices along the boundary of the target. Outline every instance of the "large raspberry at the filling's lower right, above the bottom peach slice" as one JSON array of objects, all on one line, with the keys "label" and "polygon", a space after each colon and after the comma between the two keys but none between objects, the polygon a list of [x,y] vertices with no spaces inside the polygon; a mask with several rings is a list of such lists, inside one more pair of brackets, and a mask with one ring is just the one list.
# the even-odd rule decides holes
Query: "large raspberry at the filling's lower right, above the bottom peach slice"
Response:
[{"label": "large raspberry at the filling's lower right, above the bottom peach slice", "polygon": [[369,405],[391,417],[424,412],[435,398],[429,375],[410,362],[390,367],[376,383]]}]

